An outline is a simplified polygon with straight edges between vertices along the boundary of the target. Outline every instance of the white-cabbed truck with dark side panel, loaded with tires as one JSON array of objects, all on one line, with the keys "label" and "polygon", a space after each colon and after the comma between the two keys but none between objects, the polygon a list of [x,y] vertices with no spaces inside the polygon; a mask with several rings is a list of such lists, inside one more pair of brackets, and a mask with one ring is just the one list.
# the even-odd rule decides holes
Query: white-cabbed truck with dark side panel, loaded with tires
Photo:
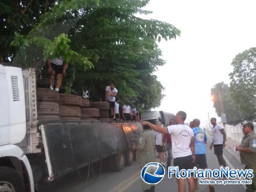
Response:
[{"label": "white-cabbed truck with dark side panel, loaded with tires", "polygon": [[[50,181],[84,166],[93,169],[96,161],[105,161],[116,171],[133,163],[132,146],[143,131],[140,122],[74,120],[68,115],[75,110],[76,118],[81,116],[84,108],[78,102],[82,105],[84,100],[37,87],[35,72],[0,65],[0,191],[8,187],[13,192],[33,192],[33,180],[37,187],[44,176]],[[76,106],[66,106],[70,102]],[[96,103],[101,109],[85,109],[98,110],[91,115],[99,116],[106,109],[102,102]],[[60,118],[64,112],[65,120]],[[17,190],[19,186],[25,189]]]}]

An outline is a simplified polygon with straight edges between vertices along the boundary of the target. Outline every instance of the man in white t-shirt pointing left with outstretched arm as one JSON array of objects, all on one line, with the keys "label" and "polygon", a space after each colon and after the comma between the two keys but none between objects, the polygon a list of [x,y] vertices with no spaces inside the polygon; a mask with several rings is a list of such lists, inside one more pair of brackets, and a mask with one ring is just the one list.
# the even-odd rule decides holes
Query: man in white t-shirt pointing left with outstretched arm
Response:
[{"label": "man in white t-shirt pointing left with outstretched arm", "polygon": [[[163,134],[171,134],[173,165],[181,169],[193,169],[195,161],[195,140],[191,128],[185,125],[186,113],[179,111],[176,114],[177,125],[170,125],[166,128],[159,127],[150,122],[143,121],[143,125],[149,125],[151,129]],[[187,178],[189,192],[195,192],[194,178]],[[185,179],[177,179],[179,192],[186,191]]]}]

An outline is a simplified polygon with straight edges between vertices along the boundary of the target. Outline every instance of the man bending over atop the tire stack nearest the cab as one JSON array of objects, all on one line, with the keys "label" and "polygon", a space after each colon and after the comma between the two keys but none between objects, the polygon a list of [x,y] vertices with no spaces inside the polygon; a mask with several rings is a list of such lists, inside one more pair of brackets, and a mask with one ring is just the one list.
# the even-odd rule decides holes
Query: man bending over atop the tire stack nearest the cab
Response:
[{"label": "man bending over atop the tire stack nearest the cab", "polygon": [[47,65],[49,73],[49,87],[50,89],[53,89],[52,84],[54,81],[54,77],[57,75],[55,91],[59,91],[63,76],[67,76],[66,70],[68,67],[68,63],[64,62],[62,57],[55,58],[53,60],[50,60],[48,58]]}]

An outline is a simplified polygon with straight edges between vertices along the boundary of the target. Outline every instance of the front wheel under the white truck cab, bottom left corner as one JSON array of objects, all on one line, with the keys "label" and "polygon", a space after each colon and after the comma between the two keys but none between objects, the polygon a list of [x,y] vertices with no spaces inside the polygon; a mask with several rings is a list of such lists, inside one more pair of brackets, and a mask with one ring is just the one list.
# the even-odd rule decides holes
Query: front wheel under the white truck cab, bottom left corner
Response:
[{"label": "front wheel under the white truck cab, bottom left corner", "polygon": [[15,169],[0,167],[0,191],[25,192],[24,180]]}]

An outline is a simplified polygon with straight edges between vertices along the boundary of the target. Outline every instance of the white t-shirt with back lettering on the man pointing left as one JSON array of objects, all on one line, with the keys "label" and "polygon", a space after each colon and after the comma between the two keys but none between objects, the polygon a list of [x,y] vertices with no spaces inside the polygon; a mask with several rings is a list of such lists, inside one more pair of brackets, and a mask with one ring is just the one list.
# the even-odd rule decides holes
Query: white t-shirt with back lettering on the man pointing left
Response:
[{"label": "white t-shirt with back lettering on the man pointing left", "polygon": [[191,138],[194,137],[192,128],[187,125],[170,125],[167,127],[167,131],[171,134],[172,138],[172,156],[186,157],[192,154],[190,149]]}]

